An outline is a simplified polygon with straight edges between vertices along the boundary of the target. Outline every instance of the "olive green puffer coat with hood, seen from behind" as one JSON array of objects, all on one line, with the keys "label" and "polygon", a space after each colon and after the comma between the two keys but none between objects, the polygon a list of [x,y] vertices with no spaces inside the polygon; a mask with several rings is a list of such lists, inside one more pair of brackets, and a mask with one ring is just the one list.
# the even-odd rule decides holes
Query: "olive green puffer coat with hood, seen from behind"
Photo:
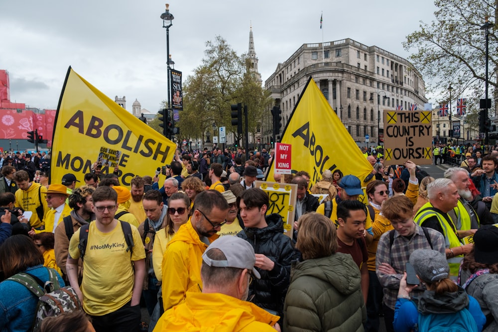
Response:
[{"label": "olive green puffer coat with hood, seen from behind", "polygon": [[284,331],[364,331],[361,275],[351,255],[335,253],[292,265]]}]

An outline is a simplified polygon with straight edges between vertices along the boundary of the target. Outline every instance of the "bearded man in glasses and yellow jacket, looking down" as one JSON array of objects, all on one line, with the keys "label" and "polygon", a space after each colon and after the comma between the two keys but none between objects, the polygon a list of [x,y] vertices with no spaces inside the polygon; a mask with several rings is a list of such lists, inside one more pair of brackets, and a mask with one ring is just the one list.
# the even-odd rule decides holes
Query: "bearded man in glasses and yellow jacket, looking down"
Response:
[{"label": "bearded man in glasses and yellow jacket, looking down", "polygon": [[162,263],[162,301],[167,311],[185,301],[188,290],[202,289],[202,254],[226,222],[228,203],[216,190],[195,198],[194,212],[169,242]]}]

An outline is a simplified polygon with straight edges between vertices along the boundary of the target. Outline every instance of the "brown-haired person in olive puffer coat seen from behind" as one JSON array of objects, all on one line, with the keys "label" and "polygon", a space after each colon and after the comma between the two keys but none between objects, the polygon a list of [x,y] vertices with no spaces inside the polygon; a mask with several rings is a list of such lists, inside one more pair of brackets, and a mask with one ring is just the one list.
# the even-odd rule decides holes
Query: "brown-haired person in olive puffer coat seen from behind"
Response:
[{"label": "brown-haired person in olive puffer coat seen from behind", "polygon": [[284,304],[283,331],[363,331],[361,275],[350,254],[337,252],[334,223],[315,212],[299,219],[296,248]]}]

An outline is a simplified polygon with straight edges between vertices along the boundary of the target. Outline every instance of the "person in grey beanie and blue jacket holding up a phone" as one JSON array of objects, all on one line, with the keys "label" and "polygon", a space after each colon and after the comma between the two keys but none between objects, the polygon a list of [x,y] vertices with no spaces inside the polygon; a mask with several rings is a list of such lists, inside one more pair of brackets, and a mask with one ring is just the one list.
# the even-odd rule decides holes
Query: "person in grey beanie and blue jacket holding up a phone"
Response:
[{"label": "person in grey beanie and blue jacket holding up a phone", "polygon": [[486,318],[479,303],[449,278],[450,266],[443,254],[416,249],[409,262],[426,290],[413,299],[416,303],[410,301],[409,293],[418,285],[407,284],[407,274],[403,273],[394,310],[394,331],[428,331],[432,320],[437,320],[441,327],[459,327],[458,331],[482,331]]}]

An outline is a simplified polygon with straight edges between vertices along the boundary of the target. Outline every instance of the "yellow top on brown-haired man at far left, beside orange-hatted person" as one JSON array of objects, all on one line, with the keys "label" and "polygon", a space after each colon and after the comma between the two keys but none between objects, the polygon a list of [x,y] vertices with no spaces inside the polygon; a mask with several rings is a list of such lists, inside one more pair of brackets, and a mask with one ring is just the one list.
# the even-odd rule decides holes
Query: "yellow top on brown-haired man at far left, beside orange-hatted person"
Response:
[{"label": "yellow top on brown-haired man at far left, beside orange-hatted person", "polygon": [[31,218],[29,218],[29,224],[34,228],[39,228],[43,225],[43,218],[40,219],[36,213],[36,208],[40,206],[40,201],[41,206],[43,206],[43,216],[45,216],[48,211],[47,200],[45,200],[44,196],[40,197],[38,195],[38,188],[40,188],[40,194],[47,192],[45,186],[36,182],[32,182],[31,186],[29,186],[26,191],[17,189],[15,192],[15,206],[17,208],[22,208],[24,211],[31,211],[33,213]]}]

